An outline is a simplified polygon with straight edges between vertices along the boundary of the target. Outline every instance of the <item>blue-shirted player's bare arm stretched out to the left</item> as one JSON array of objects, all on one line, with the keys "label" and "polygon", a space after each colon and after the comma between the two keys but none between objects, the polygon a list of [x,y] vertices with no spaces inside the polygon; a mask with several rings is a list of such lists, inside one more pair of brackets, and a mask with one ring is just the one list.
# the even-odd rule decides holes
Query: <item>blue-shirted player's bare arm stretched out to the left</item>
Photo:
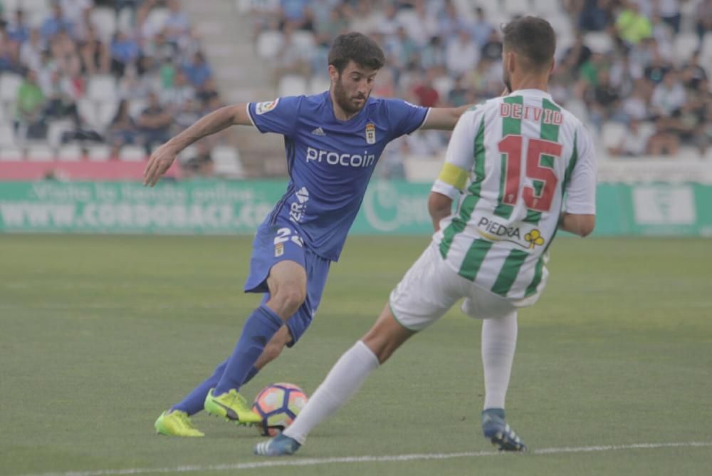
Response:
[{"label": "blue-shirted player's bare arm stretched out to the left", "polygon": [[157,148],[152,154],[143,172],[143,185],[153,187],[158,179],[171,166],[176,156],[196,140],[206,135],[218,133],[234,124],[252,125],[247,115],[247,104],[238,103],[214,110],[196,123],[176,135],[167,143]]}]

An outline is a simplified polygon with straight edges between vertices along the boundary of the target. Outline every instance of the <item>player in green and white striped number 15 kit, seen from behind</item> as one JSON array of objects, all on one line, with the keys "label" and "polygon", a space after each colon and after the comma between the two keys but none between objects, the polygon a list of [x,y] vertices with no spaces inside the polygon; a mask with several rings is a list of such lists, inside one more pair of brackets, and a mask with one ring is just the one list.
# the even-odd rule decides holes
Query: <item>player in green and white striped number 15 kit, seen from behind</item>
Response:
[{"label": "player in green and white striped number 15 kit, seen from behind", "polygon": [[544,289],[557,229],[592,232],[596,165],[587,130],[546,92],[556,46],[548,21],[526,16],[503,32],[503,81],[511,93],[471,108],[457,123],[429,197],[436,230],[430,246],[295,422],[256,445],[256,454],[298,450],[379,364],[461,298],[464,313],[483,320],[483,435],[501,450],[526,450],[504,412],[517,312]]}]

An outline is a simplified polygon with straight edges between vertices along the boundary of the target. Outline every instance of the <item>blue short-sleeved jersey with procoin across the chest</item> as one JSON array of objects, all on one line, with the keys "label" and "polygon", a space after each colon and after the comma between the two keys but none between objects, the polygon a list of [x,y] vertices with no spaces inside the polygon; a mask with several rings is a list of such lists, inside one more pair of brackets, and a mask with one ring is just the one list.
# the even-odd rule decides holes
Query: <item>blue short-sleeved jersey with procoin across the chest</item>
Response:
[{"label": "blue short-sleeved jersey with procoin across the chest", "polygon": [[249,103],[261,133],[284,135],[290,182],[265,224],[289,220],[316,254],[336,261],[381,152],[412,133],[429,108],[370,98],[347,121],[334,117],[329,91]]}]

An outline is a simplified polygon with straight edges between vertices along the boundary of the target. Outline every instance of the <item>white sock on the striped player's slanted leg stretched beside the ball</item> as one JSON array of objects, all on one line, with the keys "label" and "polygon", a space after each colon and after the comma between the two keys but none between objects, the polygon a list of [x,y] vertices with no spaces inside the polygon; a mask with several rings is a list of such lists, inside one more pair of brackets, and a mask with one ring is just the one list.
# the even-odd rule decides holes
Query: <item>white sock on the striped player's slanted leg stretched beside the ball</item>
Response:
[{"label": "white sock on the striped player's slanted leg stretched beside the ball", "polygon": [[375,353],[365,343],[355,343],[339,358],[297,418],[283,433],[303,445],[312,428],[341,408],[378,364]]}]

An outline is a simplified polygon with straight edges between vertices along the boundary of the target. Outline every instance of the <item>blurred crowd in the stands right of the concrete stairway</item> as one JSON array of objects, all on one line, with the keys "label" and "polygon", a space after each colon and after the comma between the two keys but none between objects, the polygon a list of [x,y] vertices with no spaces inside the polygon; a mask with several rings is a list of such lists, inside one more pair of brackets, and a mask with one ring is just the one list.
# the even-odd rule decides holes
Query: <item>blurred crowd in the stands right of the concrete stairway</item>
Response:
[{"label": "blurred crowd in the stands right of the concrete stairway", "polygon": [[[550,92],[590,124],[609,155],[683,150],[703,157],[711,140],[712,0],[251,3],[256,48],[278,65],[276,82],[283,84],[285,75],[323,75],[330,41],[356,30],[376,38],[387,53],[374,95],[426,106],[500,94],[499,25],[517,14],[539,14],[558,36]],[[384,159],[398,176],[399,155],[432,155],[445,143],[441,133],[417,133]]]}]

